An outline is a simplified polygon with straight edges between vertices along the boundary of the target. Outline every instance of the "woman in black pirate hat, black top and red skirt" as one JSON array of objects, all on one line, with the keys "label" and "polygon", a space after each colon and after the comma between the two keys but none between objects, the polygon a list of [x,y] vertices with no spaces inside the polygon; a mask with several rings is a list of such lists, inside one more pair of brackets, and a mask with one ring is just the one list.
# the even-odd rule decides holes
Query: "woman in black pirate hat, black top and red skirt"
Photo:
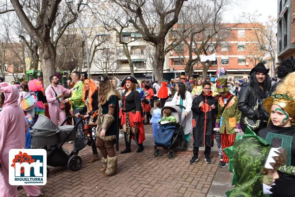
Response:
[{"label": "woman in black pirate hat, black top and red skirt", "polygon": [[140,94],[136,91],[136,84],[138,82],[133,76],[126,76],[121,84],[125,92],[122,98],[120,116],[126,145],[126,149],[121,154],[131,152],[131,138],[139,146],[136,152],[142,152],[144,150],[145,128],[142,121],[143,109]]}]

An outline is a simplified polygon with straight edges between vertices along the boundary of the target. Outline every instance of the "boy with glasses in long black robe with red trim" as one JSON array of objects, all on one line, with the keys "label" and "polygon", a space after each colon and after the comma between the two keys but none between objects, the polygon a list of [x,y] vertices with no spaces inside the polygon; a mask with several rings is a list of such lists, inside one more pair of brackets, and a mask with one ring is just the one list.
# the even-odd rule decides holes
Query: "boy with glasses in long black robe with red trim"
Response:
[{"label": "boy with glasses in long black robe with red trim", "polygon": [[202,94],[193,100],[193,139],[194,155],[190,164],[195,164],[198,160],[199,147],[205,146],[205,161],[211,163],[210,152],[214,144],[215,114],[218,111],[217,100],[212,96],[210,82],[203,83]]}]

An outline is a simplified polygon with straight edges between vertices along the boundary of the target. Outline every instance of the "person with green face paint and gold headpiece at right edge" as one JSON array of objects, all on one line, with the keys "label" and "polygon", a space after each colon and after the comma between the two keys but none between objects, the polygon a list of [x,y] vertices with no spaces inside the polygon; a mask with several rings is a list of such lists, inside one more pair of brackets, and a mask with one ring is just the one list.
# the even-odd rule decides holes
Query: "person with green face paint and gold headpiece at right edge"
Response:
[{"label": "person with green face paint and gold headpiece at right edge", "polygon": [[259,131],[272,147],[282,146],[287,152],[286,166],[279,168],[271,197],[295,197],[295,72],[280,83],[274,94],[263,103],[270,114],[269,124]]}]

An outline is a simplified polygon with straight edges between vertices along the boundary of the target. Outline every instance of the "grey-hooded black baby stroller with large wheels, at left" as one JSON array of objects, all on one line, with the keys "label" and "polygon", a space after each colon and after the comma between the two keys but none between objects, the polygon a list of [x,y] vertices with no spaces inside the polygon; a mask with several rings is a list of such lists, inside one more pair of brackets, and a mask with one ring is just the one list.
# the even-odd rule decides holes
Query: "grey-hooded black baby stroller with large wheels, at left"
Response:
[{"label": "grey-hooded black baby stroller with large wheels, at left", "polygon": [[[76,140],[77,127],[82,121],[83,116],[79,116],[80,120],[72,125],[63,125],[69,118],[68,116],[61,126],[56,126],[48,117],[39,114],[37,122],[30,131],[32,148],[44,148],[47,152],[47,165],[52,167],[67,166],[72,171],[77,171],[82,168],[82,158],[78,155],[83,149],[88,139],[78,138]],[[67,154],[62,145],[68,141],[75,141],[74,149]],[[49,173],[49,169],[47,168]]]}]

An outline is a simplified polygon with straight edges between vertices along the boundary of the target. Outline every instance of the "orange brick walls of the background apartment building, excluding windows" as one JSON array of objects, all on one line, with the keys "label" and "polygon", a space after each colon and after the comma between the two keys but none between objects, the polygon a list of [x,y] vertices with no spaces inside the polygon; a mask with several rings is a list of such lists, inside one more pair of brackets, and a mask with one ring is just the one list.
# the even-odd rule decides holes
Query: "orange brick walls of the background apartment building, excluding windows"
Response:
[{"label": "orange brick walls of the background apartment building, excluding windows", "polygon": [[[252,69],[258,62],[259,57],[264,55],[263,52],[259,51],[259,46],[256,41],[255,36],[255,28],[263,28],[260,24],[226,24],[230,28],[229,36],[224,39],[224,43],[228,44],[228,51],[224,51],[221,49],[221,46],[216,47],[216,55],[218,59],[218,63],[220,67],[227,69],[228,72],[231,70],[240,70],[241,72],[249,73],[249,70]],[[244,36],[238,36],[238,31],[244,30]],[[238,50],[238,46],[244,45],[244,50]],[[181,55],[180,55],[181,54]],[[183,55],[187,59],[189,56],[187,47],[183,47],[183,52],[179,53],[173,50],[169,54],[169,65],[171,68],[175,70],[184,70],[185,68],[185,60],[184,64],[179,65],[179,57],[183,58]],[[228,58],[228,64],[221,64],[222,59]],[[238,62],[238,60],[244,59],[244,62]],[[197,70],[202,70],[202,64],[199,63],[195,66]],[[209,70],[217,70],[217,63],[213,64]]]}]

